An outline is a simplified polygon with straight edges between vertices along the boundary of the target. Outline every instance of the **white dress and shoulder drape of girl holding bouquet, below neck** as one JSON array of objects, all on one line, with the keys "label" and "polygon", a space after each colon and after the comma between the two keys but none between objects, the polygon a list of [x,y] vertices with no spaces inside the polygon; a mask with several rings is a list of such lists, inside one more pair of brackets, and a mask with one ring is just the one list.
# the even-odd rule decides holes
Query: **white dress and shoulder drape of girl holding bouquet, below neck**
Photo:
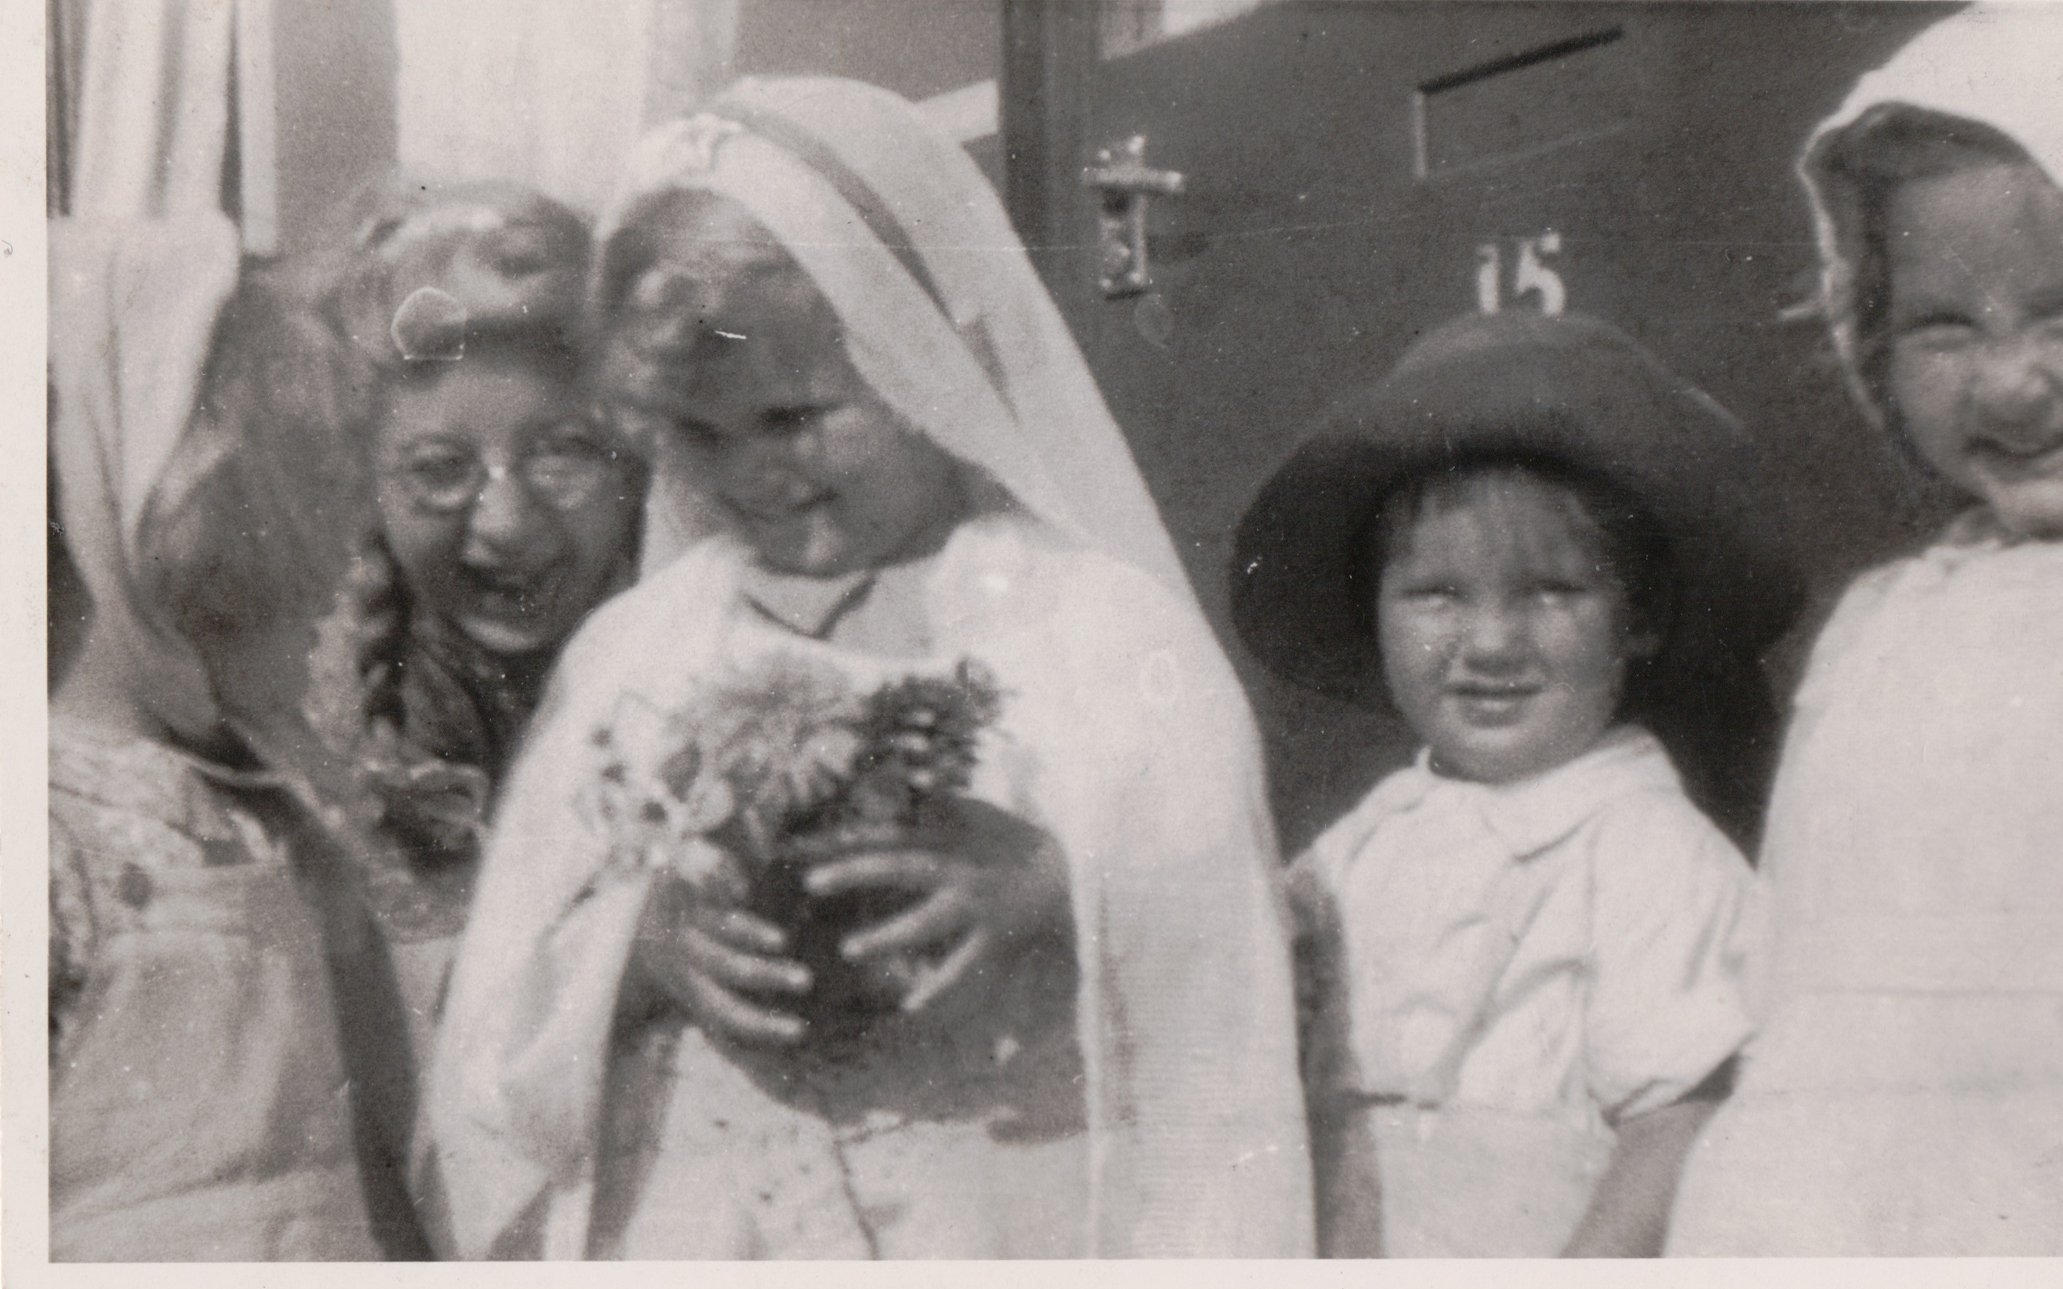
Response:
[{"label": "white dress and shoulder drape of girl holding bouquet, below neck", "polygon": [[[561,660],[497,819],[433,1075],[452,1252],[1306,1252],[1273,844],[1211,641],[1155,582],[1021,516],[968,522],[937,557],[928,662],[769,625],[743,567],[730,542],[689,549]],[[974,794],[1067,854],[1073,961],[1009,965],[982,1009],[833,1064],[679,1021],[613,1039],[644,887],[576,897],[598,864],[569,800],[592,773],[588,736],[625,693],[677,707],[767,650],[860,685],[959,658],[992,670],[1005,707]]]}]

